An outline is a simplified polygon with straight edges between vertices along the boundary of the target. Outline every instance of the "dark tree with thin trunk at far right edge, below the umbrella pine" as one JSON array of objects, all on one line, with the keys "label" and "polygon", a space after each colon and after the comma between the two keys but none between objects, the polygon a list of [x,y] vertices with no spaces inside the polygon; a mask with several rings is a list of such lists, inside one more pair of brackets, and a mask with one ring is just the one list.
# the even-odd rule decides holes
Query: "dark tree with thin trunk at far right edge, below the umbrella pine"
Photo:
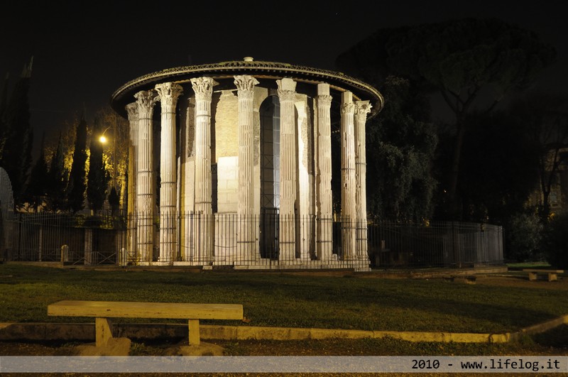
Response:
[{"label": "dark tree with thin trunk at far right edge, below the umbrella pine", "polygon": [[557,182],[559,168],[562,163],[568,162],[568,97],[530,92],[513,102],[510,111],[538,146],[538,176],[542,195],[540,218],[545,223],[550,216],[550,194]]}]

